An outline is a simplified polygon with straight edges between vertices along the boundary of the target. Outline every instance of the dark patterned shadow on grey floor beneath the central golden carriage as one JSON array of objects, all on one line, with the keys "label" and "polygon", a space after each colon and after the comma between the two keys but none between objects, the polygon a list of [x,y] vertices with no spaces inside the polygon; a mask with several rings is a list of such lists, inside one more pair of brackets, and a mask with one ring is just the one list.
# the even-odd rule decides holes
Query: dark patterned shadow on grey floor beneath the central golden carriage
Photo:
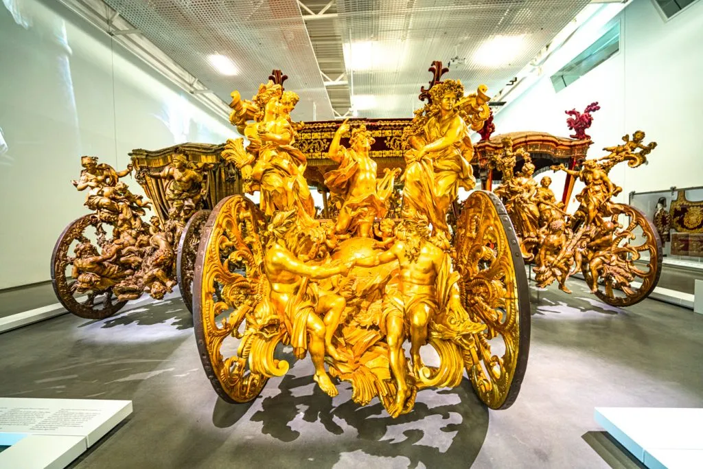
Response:
[{"label": "dark patterned shadow on grey floor beneath the central golden carriage", "polygon": [[[413,411],[398,418],[388,416],[378,400],[359,406],[347,399],[335,406],[333,399],[311,383],[312,376],[285,375],[276,395],[259,397],[250,404],[226,404],[218,399],[212,421],[220,428],[234,426],[251,406],[257,406],[250,421],[262,423],[264,435],[296,442],[285,447],[301,451],[299,455],[288,451],[274,455],[273,448],[259,452],[247,446],[248,467],[292,468],[307,463],[315,468],[332,468],[338,463],[347,467],[364,465],[370,456],[368,461],[374,463],[379,457],[407,458],[408,468],[466,468],[486,439],[489,411],[466,382],[452,390],[420,391]],[[347,383],[337,387],[340,396],[351,394]]]}]

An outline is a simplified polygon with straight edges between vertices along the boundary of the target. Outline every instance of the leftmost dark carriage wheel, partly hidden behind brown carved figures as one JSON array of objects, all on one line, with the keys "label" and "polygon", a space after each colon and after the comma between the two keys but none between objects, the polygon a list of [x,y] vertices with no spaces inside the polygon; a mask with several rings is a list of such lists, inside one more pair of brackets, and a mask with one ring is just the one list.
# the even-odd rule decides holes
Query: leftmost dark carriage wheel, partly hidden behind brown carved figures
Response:
[{"label": "leftmost dark carriage wheel, partly hidden behind brown carved figures", "polygon": [[117,301],[112,288],[77,293],[70,272],[72,249],[77,243],[94,238],[89,232],[91,227],[94,231],[102,229],[101,221],[94,214],[84,215],[66,226],[58,237],[51,254],[51,284],[58,301],[67,311],[85,319],[104,319],[120,311],[127,302]]}]

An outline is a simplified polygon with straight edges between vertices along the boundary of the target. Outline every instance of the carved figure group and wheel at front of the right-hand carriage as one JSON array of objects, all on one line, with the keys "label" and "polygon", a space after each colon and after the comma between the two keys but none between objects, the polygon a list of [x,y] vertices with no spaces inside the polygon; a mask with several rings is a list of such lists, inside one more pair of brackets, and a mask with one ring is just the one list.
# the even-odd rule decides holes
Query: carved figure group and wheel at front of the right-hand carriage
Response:
[{"label": "carved figure group and wheel at front of the right-hand carriage", "polygon": [[[642,300],[654,288],[661,266],[658,237],[643,213],[612,201],[622,188],[608,176],[619,162],[638,167],[647,161],[657,143],[645,145],[644,138],[643,131],[636,131],[632,140],[626,135],[624,144],[605,148],[610,154],[585,160],[579,169],[552,166],[585,184],[576,195],[580,205],[573,215],[556,202],[548,176],[536,187],[529,154],[522,148],[516,152],[508,149],[510,139],[503,140],[506,148],[502,153],[489,156],[489,165],[503,169],[503,186],[495,192],[515,224],[524,258],[534,262],[539,286],[558,281],[561,290],[571,293],[565,282],[582,271],[593,293],[620,306]],[[512,176],[510,170],[518,155],[524,162],[522,172]],[[634,286],[637,278],[641,285]]]}]

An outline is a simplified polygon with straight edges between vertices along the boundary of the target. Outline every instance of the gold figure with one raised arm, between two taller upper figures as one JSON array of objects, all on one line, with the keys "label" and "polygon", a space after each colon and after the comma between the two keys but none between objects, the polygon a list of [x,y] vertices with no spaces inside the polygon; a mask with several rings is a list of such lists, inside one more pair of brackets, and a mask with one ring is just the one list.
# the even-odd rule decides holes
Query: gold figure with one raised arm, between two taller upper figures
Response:
[{"label": "gold figure with one raised arm, between two taller upper figures", "polygon": [[354,128],[349,139],[351,148],[344,148],[340,139],[347,131],[349,124],[345,120],[335,132],[328,151],[330,160],[339,167],[325,174],[325,186],[333,200],[341,201],[335,232],[369,237],[373,236],[373,221],[386,215],[387,198],[401,170],[386,169],[385,176],[376,179],[377,165],[368,154],[374,143],[370,131],[363,124]]}]

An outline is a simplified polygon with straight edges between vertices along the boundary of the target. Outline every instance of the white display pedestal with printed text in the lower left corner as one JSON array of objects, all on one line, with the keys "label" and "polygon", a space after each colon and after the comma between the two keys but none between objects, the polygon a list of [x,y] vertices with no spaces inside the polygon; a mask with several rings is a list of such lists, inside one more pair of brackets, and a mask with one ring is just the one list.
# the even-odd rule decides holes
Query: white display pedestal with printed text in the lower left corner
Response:
[{"label": "white display pedestal with printed text in the lower left corner", "polygon": [[131,413],[131,401],[1,397],[0,468],[65,468]]}]

